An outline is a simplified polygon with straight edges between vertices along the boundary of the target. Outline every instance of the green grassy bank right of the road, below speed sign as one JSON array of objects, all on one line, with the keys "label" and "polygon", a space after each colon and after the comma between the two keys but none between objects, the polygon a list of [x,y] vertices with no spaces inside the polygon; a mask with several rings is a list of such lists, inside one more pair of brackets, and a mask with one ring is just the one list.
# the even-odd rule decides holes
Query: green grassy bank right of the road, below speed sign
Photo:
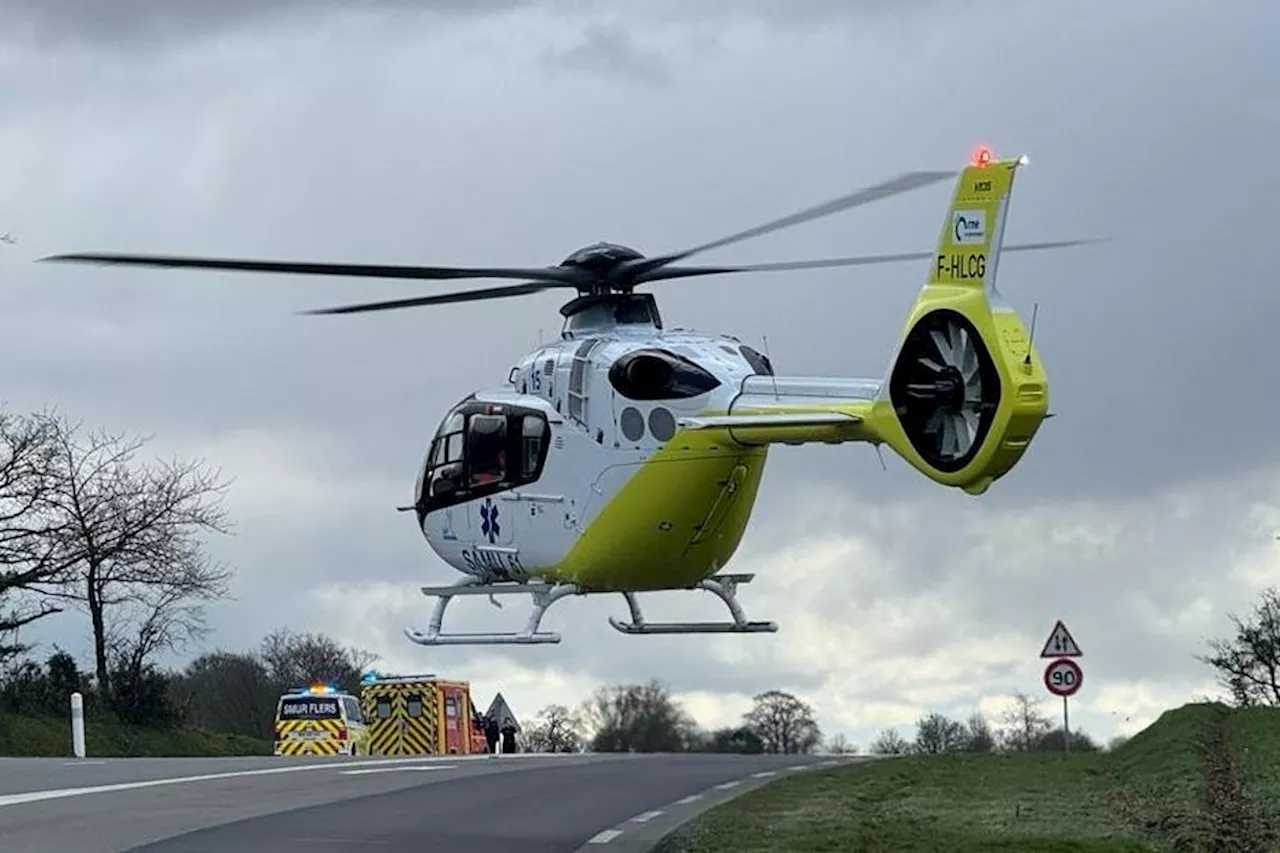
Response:
[{"label": "green grassy bank right of the road, below speed sign", "polygon": [[709,811],[663,853],[1276,849],[1280,710],[1189,704],[1111,753],[892,758]]}]

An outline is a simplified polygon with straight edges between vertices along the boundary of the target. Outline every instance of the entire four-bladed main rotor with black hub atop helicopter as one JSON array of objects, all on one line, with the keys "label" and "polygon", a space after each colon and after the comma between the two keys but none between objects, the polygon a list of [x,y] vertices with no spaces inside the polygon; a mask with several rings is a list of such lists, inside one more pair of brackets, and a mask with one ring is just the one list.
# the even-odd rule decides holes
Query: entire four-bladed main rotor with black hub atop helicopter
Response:
[{"label": "entire four-bladed main rotor with black hub atop helicopter", "polygon": [[[933,257],[933,252],[908,252],[896,255],[861,255],[854,257],[832,257],[824,260],[782,261],[772,264],[682,266],[678,261],[695,254],[719,248],[732,243],[768,234],[783,228],[791,228],[844,210],[890,199],[911,190],[956,177],[956,172],[908,172],[855,192],[832,199],[794,213],[781,219],[756,225],[746,231],[721,237],[678,252],[645,257],[640,252],[616,243],[595,243],[586,246],[554,266],[417,266],[381,264],[335,264],[316,261],[274,261],[234,257],[193,257],[179,255],[128,255],[118,252],[74,252],[51,255],[41,260],[77,264],[110,264],[128,266],[151,266],[168,269],[209,269],[248,273],[285,273],[294,275],[343,275],[352,278],[384,278],[410,280],[453,280],[453,279],[521,279],[520,284],[454,291],[433,296],[419,296],[378,302],[361,302],[325,309],[314,309],[303,314],[358,314],[365,311],[387,311],[403,307],[448,305],[474,302],[480,300],[529,296],[552,288],[572,288],[585,296],[608,293],[627,293],[637,284],[694,278],[701,275],[722,275],[727,273],[786,272],[805,269],[829,269],[840,266],[867,266],[874,264],[893,264]],[[1093,240],[1055,241],[1006,246],[1005,251],[1061,248],[1078,246]]]}]

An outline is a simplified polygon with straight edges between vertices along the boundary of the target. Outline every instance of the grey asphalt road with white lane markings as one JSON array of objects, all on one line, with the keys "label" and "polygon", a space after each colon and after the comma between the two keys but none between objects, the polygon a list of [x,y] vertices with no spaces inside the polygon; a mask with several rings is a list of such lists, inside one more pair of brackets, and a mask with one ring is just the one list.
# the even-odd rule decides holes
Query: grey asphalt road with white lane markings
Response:
[{"label": "grey asphalt road with white lane markings", "polygon": [[4,853],[631,853],[801,756],[0,758]]}]

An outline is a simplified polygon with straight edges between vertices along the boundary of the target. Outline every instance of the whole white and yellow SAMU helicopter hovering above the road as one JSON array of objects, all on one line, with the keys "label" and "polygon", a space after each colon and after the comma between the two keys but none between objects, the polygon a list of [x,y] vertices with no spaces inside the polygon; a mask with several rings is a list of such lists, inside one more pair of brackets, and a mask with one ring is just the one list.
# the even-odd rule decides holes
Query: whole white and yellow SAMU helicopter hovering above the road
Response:
[{"label": "whole white and yellow SAMU helicopter hovering above the road", "polygon": [[[1096,238],[1004,245],[1025,156],[982,146],[960,170],[908,172],[790,216],[684,251],[645,256],[600,242],[553,266],[442,268],[73,254],[42,260],[401,279],[518,279],[485,289],[364,302],[303,314],[576,291],[559,339],[525,353],[506,383],[467,394],[442,419],[411,506],[429,547],[462,576],[422,587],[435,599],[421,646],[559,643],[547,610],[573,596],[621,594],[625,634],[774,633],[737,599],[754,575],[723,571],[746,530],[773,444],[888,444],[931,480],[984,493],[1027,452],[1048,412],[1032,330],[996,289],[1002,252]],[[695,254],[956,178],[934,251],[751,265],[686,265]],[[881,378],[778,375],[767,352],[728,334],[667,329],[641,284],[745,272],[928,261]],[[767,348],[767,347],[765,347]],[[649,622],[637,596],[705,590],[731,619]],[[458,596],[529,596],[522,630],[444,633]]]}]

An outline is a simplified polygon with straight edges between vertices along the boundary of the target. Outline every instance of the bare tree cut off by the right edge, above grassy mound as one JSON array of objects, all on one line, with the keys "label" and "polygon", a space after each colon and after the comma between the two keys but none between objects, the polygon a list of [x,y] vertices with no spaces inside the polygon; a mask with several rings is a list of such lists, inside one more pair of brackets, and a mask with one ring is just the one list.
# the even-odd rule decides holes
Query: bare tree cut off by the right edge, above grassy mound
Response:
[{"label": "bare tree cut off by the right edge, above grassy mound", "polygon": [[1268,587],[1247,619],[1230,619],[1235,637],[1211,640],[1210,653],[1197,660],[1217,671],[1235,704],[1280,704],[1280,592]]}]

